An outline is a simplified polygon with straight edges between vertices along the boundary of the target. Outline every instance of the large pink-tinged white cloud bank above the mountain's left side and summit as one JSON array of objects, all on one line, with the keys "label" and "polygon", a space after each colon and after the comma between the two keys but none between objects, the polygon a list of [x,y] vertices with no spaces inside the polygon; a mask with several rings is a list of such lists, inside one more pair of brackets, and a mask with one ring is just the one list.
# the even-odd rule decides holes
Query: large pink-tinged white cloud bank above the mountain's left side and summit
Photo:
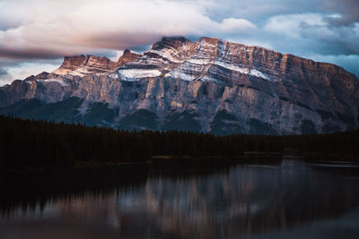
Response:
[{"label": "large pink-tinged white cloud bank above the mountain's left side and summit", "polygon": [[[5,2],[13,11],[20,5]],[[64,0],[62,4],[71,5],[66,11],[62,4],[36,2],[38,4],[22,1],[20,8],[26,8],[28,13],[8,16],[8,21],[19,22],[19,25],[0,30],[0,56],[50,58],[97,49],[123,50],[144,46],[162,36],[246,34],[256,29],[245,19],[213,21],[200,2]],[[4,13],[4,10],[0,12]]]}]

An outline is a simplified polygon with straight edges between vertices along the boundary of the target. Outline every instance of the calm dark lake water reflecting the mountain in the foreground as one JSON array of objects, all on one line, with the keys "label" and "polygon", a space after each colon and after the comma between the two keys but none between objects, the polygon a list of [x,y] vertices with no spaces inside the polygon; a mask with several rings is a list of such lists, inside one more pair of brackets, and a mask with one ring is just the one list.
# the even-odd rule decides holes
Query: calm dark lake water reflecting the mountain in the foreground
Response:
[{"label": "calm dark lake water reflecting the mountain in the foreground", "polygon": [[1,175],[0,238],[359,238],[350,163]]}]

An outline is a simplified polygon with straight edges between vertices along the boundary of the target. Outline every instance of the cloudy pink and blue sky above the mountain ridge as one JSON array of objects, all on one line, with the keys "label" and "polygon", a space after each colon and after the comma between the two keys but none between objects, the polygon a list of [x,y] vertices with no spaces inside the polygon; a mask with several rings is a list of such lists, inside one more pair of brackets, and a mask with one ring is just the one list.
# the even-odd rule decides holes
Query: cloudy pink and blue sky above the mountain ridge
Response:
[{"label": "cloudy pink and blue sky above the mountain ridge", "polygon": [[223,38],[338,64],[359,78],[359,0],[0,0],[0,85],[65,55]]}]

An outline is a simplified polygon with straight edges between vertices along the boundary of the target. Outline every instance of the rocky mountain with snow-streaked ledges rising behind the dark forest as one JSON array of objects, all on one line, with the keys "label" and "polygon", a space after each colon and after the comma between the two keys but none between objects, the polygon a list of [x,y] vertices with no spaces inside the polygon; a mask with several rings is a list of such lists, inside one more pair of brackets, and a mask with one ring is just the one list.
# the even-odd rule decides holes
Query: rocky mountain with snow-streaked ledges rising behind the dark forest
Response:
[{"label": "rocky mountain with snow-streaked ledges rising behind the dark forest", "polygon": [[118,62],[65,57],[0,88],[0,114],[117,129],[305,134],[359,128],[359,81],[335,64],[218,38],[162,38]]}]

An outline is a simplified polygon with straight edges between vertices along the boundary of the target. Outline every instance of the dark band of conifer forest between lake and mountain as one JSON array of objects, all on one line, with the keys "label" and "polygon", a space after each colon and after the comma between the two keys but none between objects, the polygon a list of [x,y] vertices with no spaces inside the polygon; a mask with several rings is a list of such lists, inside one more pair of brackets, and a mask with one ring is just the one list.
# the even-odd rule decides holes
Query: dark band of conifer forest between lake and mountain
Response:
[{"label": "dark band of conifer forest between lake and mountain", "polygon": [[247,152],[358,158],[359,131],[313,135],[229,135],[179,131],[120,131],[0,115],[0,168],[133,163],[153,156],[241,157]]}]

